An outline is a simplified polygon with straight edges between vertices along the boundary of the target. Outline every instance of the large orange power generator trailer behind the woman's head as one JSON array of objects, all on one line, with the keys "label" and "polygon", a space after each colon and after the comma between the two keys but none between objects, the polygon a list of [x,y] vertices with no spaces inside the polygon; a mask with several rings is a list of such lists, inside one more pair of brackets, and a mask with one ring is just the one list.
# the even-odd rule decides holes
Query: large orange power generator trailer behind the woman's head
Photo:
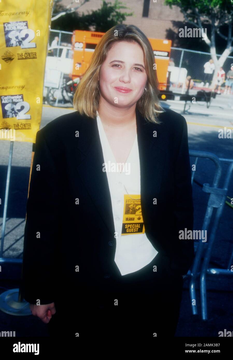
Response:
[{"label": "large orange power generator trailer behind the woman's head", "polygon": [[[75,30],[72,35],[73,68],[70,77],[80,77],[89,66],[91,56],[104,32]],[[149,39],[154,51],[157,76],[160,84],[160,98],[167,99],[166,91],[169,82],[168,66],[171,51],[171,40]],[[168,91],[169,93],[169,91]]]}]

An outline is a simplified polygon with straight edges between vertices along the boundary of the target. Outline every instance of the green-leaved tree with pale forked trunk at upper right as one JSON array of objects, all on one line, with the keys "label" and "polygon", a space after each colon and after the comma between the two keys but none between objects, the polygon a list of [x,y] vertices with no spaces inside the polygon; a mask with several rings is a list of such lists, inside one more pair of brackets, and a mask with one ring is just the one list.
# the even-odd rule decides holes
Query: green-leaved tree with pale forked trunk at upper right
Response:
[{"label": "green-leaved tree with pale forked trunk at upper right", "polygon": [[[216,84],[217,73],[223,66],[227,57],[233,51],[233,1],[231,0],[165,0],[165,4],[178,6],[184,15],[185,20],[196,28],[210,26],[210,34],[202,36],[210,48],[211,58],[215,64],[215,71],[211,87]],[[225,26],[228,27],[227,35],[223,34]],[[218,59],[216,56],[216,34],[226,41],[225,50]]]}]

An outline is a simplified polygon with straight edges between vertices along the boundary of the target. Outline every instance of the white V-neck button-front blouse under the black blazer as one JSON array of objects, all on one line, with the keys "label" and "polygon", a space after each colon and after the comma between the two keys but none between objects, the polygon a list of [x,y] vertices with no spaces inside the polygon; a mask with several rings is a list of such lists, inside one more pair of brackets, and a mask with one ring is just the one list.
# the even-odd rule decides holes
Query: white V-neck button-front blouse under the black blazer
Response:
[{"label": "white V-neck button-front blouse under the black blazer", "polygon": [[[125,168],[117,167],[116,159],[109,145],[102,121],[97,112],[99,137],[103,150],[104,163],[106,164],[108,186],[111,194],[112,212],[116,235],[115,262],[121,275],[133,273],[149,264],[158,251],[152,246],[145,233],[127,234],[121,236],[124,194],[133,198],[140,198],[140,162],[138,151],[138,138],[135,136],[133,147],[125,163]],[[116,168],[109,166],[115,164]],[[112,165],[114,166],[114,165]],[[112,171],[111,171],[112,169]],[[110,171],[109,171],[110,170]],[[122,171],[122,172],[120,172]],[[124,187],[125,185],[125,187]],[[125,188],[127,192],[125,191]],[[139,196],[132,196],[132,194]],[[142,213],[143,217],[143,213]]]}]

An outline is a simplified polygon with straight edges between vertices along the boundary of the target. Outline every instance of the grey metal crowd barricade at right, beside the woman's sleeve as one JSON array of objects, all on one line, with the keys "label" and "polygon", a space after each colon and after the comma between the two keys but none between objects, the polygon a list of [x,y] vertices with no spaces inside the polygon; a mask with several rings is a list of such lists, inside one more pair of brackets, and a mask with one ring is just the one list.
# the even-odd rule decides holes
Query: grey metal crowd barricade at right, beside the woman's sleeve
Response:
[{"label": "grey metal crowd barricade at right, beside the woman's sleeve", "polygon": [[[203,184],[202,190],[206,193],[209,193],[209,200],[206,208],[205,218],[203,221],[202,229],[208,230],[211,217],[213,214],[214,208],[217,208],[216,214],[214,216],[214,225],[212,226],[210,230],[209,235],[209,241],[208,243],[203,243],[202,239],[199,240],[198,243],[194,243],[194,247],[196,249],[196,254],[193,261],[192,269],[188,271],[188,276],[190,276],[190,283],[189,283],[189,293],[191,298],[191,304],[193,300],[196,300],[196,289],[195,289],[195,281],[200,275],[200,294],[201,294],[201,314],[202,314],[202,320],[207,320],[207,295],[206,295],[206,274],[215,274],[215,275],[233,275],[233,272],[230,271],[230,263],[233,258],[233,253],[230,258],[228,269],[216,269],[216,268],[210,268],[208,269],[208,265],[210,262],[210,257],[212,253],[212,248],[215,240],[216,230],[218,229],[219,220],[223,212],[223,207],[225,204],[225,198],[228,191],[228,186],[230,182],[230,177],[232,175],[233,171],[233,160],[231,159],[225,159],[227,161],[230,161],[230,165],[228,167],[227,176],[224,180],[224,186],[223,188],[219,188],[219,181],[221,178],[222,173],[222,167],[221,167],[221,160],[218,158],[215,154],[210,152],[202,152],[197,150],[190,150],[189,151],[190,157],[195,157],[195,165],[197,164],[198,158],[206,158],[210,159],[215,164],[215,172],[214,172],[214,179],[212,182],[212,186],[210,187],[209,184]],[[194,171],[192,174],[192,184],[194,179]],[[204,253],[205,252],[205,253]],[[201,257],[204,257],[203,263],[201,266],[201,271],[198,273],[198,270],[200,268],[201,263]],[[192,306],[192,305],[191,305]],[[192,306],[192,313],[193,315],[197,314],[197,307]]]}]

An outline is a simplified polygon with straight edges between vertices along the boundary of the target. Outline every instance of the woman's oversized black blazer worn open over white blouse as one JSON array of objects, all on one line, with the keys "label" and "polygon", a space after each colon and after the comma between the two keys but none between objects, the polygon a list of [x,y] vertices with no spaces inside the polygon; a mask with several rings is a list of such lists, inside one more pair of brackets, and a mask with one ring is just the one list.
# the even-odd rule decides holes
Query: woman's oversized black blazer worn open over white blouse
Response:
[{"label": "woman's oversized black blazer worn open over white blouse", "polygon": [[[183,275],[194,257],[193,240],[179,239],[179,230],[193,230],[187,123],[169,109],[159,120],[147,122],[136,109],[142,216],[149,241]],[[120,274],[103,163],[96,118],[75,111],[37,132],[24,232],[26,301],[51,303],[64,284],[75,294]]]}]

